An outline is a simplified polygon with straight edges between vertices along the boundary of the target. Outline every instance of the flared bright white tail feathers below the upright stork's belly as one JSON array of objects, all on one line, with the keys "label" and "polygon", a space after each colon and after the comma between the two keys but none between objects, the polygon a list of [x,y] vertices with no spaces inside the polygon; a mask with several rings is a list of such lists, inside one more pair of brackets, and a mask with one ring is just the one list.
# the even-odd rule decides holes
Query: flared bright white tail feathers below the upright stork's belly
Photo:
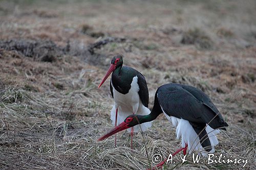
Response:
[{"label": "flared bright white tail feathers below the upright stork's belly", "polygon": [[[147,115],[147,114],[150,114],[150,109],[142,106],[142,108],[140,110],[138,110],[136,112],[136,114],[139,114],[139,115]],[[122,111],[122,108],[118,107],[118,114],[117,114],[117,126],[119,124],[121,124],[124,119],[131,115],[133,113],[131,112],[123,112]],[[115,105],[113,106],[112,110],[111,110],[111,117],[110,119],[112,120],[112,124],[115,125],[115,116],[116,116],[116,108],[115,108]],[[143,123],[143,124],[140,124],[140,125],[136,125],[134,126],[134,132],[138,132],[140,131],[140,128],[141,130],[144,132],[147,130],[147,128],[150,128],[152,126],[152,122],[146,122],[146,123]],[[131,132],[131,128],[127,129],[128,132]]]}]

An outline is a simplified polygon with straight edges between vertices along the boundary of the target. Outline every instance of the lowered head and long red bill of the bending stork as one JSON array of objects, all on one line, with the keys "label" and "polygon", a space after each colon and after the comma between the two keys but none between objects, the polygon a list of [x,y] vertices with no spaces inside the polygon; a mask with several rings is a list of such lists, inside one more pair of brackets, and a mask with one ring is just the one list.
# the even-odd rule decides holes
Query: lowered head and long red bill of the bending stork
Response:
[{"label": "lowered head and long red bill of the bending stork", "polygon": [[139,115],[132,114],[132,115],[126,117],[125,120],[121,124],[119,124],[117,127],[112,129],[108,134],[105,134],[104,136],[100,137],[98,140],[99,141],[104,140],[105,138],[108,138],[117,132],[134,127],[134,126],[138,125],[139,122],[140,122]]}]

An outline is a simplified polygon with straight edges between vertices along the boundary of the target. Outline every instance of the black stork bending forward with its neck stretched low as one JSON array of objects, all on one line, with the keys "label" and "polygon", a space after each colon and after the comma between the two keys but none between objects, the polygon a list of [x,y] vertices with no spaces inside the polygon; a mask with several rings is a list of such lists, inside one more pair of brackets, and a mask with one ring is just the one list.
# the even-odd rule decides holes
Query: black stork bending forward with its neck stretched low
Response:
[{"label": "black stork bending forward with its neck stretched low", "polygon": [[[193,151],[199,151],[203,155],[215,152],[214,147],[219,143],[216,134],[220,129],[226,130],[225,127],[228,126],[203,91],[188,85],[170,83],[157,89],[150,114],[129,115],[124,122],[98,140],[138,124],[151,122],[161,113],[176,126],[177,139],[181,137],[182,148],[173,156],[182,150],[185,155],[187,147],[189,154]],[[157,166],[162,166],[165,161],[166,159]]]}]

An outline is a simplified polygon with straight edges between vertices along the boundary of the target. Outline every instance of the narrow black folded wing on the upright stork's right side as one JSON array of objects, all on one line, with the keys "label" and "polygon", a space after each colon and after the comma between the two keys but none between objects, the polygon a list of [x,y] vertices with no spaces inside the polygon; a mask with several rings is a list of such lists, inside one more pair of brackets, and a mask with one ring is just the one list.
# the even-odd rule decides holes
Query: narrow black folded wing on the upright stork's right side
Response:
[{"label": "narrow black folded wing on the upright stork's right side", "polygon": [[138,92],[140,96],[140,100],[145,107],[148,107],[148,89],[146,85],[146,79],[140,72],[138,72],[137,77],[138,77],[138,85],[140,88]]}]

